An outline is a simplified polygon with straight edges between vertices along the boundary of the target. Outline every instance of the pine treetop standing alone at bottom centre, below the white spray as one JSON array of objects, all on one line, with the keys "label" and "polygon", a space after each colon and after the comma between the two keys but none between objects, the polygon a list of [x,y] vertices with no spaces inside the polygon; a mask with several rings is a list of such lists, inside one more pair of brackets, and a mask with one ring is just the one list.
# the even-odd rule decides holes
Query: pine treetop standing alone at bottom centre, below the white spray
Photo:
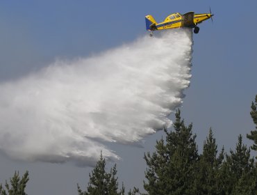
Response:
[{"label": "pine treetop standing alone at bottom centre, below the white spray", "polygon": [[90,174],[90,181],[85,192],[78,186],[78,195],[124,195],[124,186],[118,192],[117,182],[117,169],[116,164],[110,169],[110,173],[106,173],[106,160],[103,159],[103,155],[100,155],[100,159],[97,165]]}]

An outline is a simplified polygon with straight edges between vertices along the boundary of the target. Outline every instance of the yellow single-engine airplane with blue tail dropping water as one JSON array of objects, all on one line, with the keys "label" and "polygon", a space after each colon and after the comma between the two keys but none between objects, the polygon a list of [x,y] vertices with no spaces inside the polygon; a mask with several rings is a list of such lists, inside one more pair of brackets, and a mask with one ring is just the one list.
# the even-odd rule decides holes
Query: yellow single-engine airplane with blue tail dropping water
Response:
[{"label": "yellow single-engine airplane with blue tail dropping water", "polygon": [[189,12],[181,15],[181,13],[172,13],[167,16],[163,22],[157,23],[154,17],[147,15],[145,17],[145,24],[147,31],[151,31],[150,36],[153,36],[153,31],[163,30],[163,29],[175,29],[181,27],[194,28],[194,33],[199,33],[200,28],[197,24],[200,24],[204,20],[211,19],[213,21],[213,14],[211,13],[201,13],[195,14],[194,12]]}]

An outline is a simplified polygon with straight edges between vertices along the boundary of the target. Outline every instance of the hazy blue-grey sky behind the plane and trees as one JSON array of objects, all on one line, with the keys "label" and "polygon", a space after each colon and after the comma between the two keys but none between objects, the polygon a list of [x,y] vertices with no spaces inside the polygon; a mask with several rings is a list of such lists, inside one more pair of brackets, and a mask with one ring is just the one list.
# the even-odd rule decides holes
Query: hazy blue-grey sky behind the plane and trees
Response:
[{"label": "hazy blue-grey sky behind the plane and trees", "polygon": [[[0,82],[13,81],[53,63],[97,55],[132,42],[145,33],[144,16],[162,21],[174,12],[215,14],[193,36],[192,78],[185,90],[182,117],[193,123],[201,150],[209,127],[219,148],[234,148],[238,134],[254,129],[249,115],[257,94],[257,2],[253,1],[1,1]],[[174,116],[173,116],[174,117]],[[158,132],[144,148],[108,144],[122,157],[119,182],[142,189],[145,151],[152,151]],[[30,172],[28,194],[76,194],[91,168],[74,164],[28,163],[1,154],[1,182],[15,170]],[[111,166],[112,164],[110,164]]]}]

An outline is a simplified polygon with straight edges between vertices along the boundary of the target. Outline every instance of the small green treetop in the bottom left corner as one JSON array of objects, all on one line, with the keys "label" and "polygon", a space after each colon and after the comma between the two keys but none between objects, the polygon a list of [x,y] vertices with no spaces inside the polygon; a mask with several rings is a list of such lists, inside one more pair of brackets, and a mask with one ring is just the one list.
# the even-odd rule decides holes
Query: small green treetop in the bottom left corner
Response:
[{"label": "small green treetop in the bottom left corner", "polygon": [[24,173],[22,178],[19,177],[19,172],[15,171],[13,178],[10,178],[10,185],[6,181],[6,189],[0,185],[0,195],[26,195],[25,188],[28,180],[28,171]]}]

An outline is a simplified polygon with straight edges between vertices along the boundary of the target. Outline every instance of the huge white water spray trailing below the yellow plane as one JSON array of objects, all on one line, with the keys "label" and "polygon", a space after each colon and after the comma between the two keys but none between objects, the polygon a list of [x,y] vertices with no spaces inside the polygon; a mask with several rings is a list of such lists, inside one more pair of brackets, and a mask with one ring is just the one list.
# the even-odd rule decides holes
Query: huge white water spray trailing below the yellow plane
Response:
[{"label": "huge white water spray trailing below the yellow plane", "polygon": [[0,84],[0,149],[26,161],[90,165],[101,150],[117,159],[103,142],[133,143],[171,125],[191,58],[190,29],[163,31]]}]

